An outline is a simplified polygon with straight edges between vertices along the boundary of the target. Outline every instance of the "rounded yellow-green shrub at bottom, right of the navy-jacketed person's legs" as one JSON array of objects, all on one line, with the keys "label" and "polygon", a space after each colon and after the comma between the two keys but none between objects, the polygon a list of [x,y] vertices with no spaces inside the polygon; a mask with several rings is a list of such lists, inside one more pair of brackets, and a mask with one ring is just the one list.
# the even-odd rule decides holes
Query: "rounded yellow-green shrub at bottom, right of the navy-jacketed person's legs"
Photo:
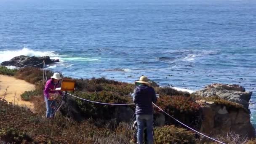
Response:
[{"label": "rounded yellow-green shrub at bottom, right of the navy-jacketed person's legs", "polygon": [[195,133],[174,125],[166,125],[155,128],[155,140],[157,144],[195,144]]}]

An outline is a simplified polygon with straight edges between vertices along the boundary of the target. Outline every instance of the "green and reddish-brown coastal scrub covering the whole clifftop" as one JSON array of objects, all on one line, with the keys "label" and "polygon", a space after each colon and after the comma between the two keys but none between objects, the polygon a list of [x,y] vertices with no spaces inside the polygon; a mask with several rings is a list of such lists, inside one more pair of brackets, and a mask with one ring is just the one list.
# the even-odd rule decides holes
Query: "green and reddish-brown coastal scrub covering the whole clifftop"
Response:
[{"label": "green and reddish-brown coastal scrub covering the whole clifftop", "polygon": [[[60,112],[56,113],[54,119],[49,120],[44,118],[44,82],[41,69],[26,67],[10,70],[0,67],[0,74],[14,76],[36,85],[35,90],[26,91],[21,95],[24,101],[34,103],[33,112],[27,107],[20,107],[0,99],[0,143],[2,141],[17,144],[133,144],[131,123],[115,119],[115,109],[119,106],[94,104],[75,99],[81,109],[83,120],[77,122]],[[53,72],[46,71],[46,75],[51,77]],[[62,75],[62,77],[65,76]],[[130,93],[133,92],[133,84],[107,80],[104,77],[80,78],[75,81],[76,91],[72,93],[75,96],[104,103],[132,103]],[[157,106],[197,131],[200,131],[202,112],[200,104],[196,101],[205,99],[226,106],[227,109],[241,108],[239,104],[224,99],[203,98],[169,87],[155,87],[155,91],[160,94]],[[134,105],[122,107],[135,109]],[[155,115],[160,114],[160,110],[155,108]],[[203,138],[200,135],[189,131],[167,115],[165,115],[165,125],[156,126],[154,131],[157,144],[216,144],[209,139],[202,141]],[[234,141],[233,137],[228,135],[212,137],[227,144],[236,144],[237,141],[244,141],[243,144],[256,144],[254,140],[248,139]]]}]

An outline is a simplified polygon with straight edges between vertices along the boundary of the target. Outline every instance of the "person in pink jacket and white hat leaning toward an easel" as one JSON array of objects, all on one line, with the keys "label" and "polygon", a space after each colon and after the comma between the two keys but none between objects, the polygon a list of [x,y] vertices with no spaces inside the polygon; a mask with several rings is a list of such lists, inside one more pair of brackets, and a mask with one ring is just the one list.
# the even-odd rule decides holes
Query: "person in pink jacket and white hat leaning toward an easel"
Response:
[{"label": "person in pink jacket and white hat leaning toward an easel", "polygon": [[62,96],[61,91],[52,91],[56,88],[60,87],[60,74],[54,73],[50,80],[48,80],[45,84],[45,89],[43,91],[45,104],[46,104],[46,118],[53,118],[55,107],[56,107],[56,101],[55,98],[58,95]]}]

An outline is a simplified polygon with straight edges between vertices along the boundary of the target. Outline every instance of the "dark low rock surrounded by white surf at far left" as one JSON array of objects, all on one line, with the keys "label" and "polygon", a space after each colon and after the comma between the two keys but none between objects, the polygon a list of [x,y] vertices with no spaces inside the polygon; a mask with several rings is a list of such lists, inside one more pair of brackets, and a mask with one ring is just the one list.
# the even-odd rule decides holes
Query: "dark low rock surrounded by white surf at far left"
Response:
[{"label": "dark low rock surrounded by white surf at far left", "polygon": [[[18,62],[20,63],[18,63]],[[16,56],[10,61],[4,61],[0,65],[1,66],[15,66],[15,67],[24,67],[24,65],[27,66],[34,66],[37,64],[42,63],[45,61],[45,64],[52,64],[54,62],[59,62],[58,59],[50,59],[49,56],[43,56],[43,57],[35,57],[35,56]],[[22,65],[24,64],[24,65]],[[43,64],[37,65],[35,67],[43,68]]]}]

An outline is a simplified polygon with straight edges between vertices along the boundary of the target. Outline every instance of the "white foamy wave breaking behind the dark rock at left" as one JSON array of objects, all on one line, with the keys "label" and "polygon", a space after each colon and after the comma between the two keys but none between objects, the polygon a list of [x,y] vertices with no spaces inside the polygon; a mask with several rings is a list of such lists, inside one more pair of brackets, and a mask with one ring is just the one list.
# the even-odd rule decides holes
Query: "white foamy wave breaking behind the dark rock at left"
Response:
[{"label": "white foamy wave breaking behind the dark rock at left", "polygon": [[8,61],[15,56],[50,56],[51,59],[60,59],[59,54],[54,51],[33,51],[27,47],[16,51],[0,51],[0,62]]}]

